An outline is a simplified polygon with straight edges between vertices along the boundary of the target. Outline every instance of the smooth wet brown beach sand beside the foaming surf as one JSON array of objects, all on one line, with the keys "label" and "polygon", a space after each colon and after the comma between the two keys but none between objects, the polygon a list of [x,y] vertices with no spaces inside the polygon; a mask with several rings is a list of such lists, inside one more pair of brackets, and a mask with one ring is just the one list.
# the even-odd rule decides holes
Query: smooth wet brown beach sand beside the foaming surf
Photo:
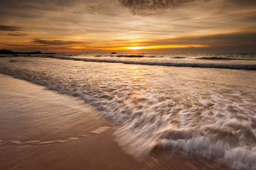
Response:
[{"label": "smooth wet brown beach sand beside the foaming surf", "polygon": [[99,111],[43,86],[0,74],[0,98],[1,170],[221,169],[160,149],[136,162],[118,147],[113,125]]}]

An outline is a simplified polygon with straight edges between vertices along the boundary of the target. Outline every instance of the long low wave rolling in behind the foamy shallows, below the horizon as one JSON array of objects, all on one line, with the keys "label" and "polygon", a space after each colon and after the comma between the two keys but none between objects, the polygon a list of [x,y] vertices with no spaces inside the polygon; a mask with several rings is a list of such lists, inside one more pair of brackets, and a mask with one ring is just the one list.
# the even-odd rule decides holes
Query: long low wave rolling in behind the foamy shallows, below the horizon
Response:
[{"label": "long low wave rolling in behind the foamy shallows, below the horizon", "polygon": [[141,64],[141,65],[156,65],[167,67],[198,67],[198,68],[216,68],[216,69],[247,69],[256,70],[256,64],[211,64],[211,63],[174,63],[174,62],[137,62],[137,61],[120,61],[120,60],[97,60],[97,59],[85,59],[74,57],[57,57],[46,56],[61,60],[76,60],[83,62],[111,62],[122,64]]}]

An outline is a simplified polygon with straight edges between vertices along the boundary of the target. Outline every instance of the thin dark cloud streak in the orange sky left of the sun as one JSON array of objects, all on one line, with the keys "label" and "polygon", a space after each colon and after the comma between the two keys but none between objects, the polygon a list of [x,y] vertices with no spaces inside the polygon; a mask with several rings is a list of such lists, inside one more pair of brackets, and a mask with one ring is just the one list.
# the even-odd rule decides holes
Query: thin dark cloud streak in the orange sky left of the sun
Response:
[{"label": "thin dark cloud streak in the orange sky left of the sun", "polygon": [[83,42],[79,41],[63,41],[63,40],[42,40],[40,38],[33,39],[33,44],[35,45],[74,45],[82,44]]}]

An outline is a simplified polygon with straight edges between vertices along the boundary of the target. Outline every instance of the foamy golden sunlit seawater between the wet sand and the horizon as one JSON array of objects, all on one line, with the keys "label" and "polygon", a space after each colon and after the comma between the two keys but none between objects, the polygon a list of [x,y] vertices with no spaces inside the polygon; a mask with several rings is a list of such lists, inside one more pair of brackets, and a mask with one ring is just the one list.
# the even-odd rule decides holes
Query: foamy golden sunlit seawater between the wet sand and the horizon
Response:
[{"label": "foamy golden sunlit seawater between the wet sand and the horizon", "polygon": [[150,56],[0,57],[0,72],[82,98],[116,125],[118,145],[138,160],[160,148],[256,169],[255,54]]}]

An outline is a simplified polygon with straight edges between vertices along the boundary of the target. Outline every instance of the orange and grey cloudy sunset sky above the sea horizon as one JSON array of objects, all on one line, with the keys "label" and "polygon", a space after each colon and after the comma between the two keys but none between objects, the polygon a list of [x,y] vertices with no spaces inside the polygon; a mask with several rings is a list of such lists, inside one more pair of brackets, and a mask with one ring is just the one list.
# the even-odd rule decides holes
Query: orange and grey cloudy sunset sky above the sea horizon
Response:
[{"label": "orange and grey cloudy sunset sky above the sea horizon", "polygon": [[0,0],[0,49],[256,52],[255,0]]}]

